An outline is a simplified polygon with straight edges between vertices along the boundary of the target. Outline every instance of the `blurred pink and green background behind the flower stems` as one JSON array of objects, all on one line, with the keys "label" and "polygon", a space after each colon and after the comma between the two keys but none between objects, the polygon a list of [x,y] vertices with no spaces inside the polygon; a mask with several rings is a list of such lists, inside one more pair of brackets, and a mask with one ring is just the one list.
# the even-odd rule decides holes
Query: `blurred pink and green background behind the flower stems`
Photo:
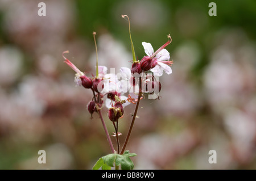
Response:
[{"label": "blurred pink and green background behind the flower stems", "polygon": [[[38,3],[46,16],[38,16]],[[101,121],[75,72],[131,66],[142,41],[166,43],[174,60],[160,100],[143,99],[127,149],[134,169],[256,169],[256,2],[0,0],[0,169],[92,169],[110,153]],[[135,106],[119,121],[121,145]],[[112,123],[104,108],[110,134]],[[115,145],[114,137],[113,144]],[[38,151],[46,150],[46,164]],[[217,151],[210,164],[209,150]]]}]

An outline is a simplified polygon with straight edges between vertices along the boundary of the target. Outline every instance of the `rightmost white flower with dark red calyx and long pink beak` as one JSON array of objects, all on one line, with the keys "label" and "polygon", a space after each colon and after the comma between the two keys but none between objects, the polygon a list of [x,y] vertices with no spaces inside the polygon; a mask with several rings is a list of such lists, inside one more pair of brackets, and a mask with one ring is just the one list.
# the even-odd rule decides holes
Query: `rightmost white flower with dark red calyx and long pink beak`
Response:
[{"label": "rightmost white flower with dark red calyx and long pink beak", "polygon": [[171,43],[171,36],[168,35],[170,40],[167,41],[162,47],[154,52],[154,49],[150,43],[142,42],[145,53],[147,56],[144,56],[141,60],[141,69],[144,71],[151,70],[152,73],[156,76],[162,76],[163,71],[167,74],[172,73],[172,69],[170,65],[172,65],[172,61],[170,60],[170,53],[164,49],[168,44]]}]

